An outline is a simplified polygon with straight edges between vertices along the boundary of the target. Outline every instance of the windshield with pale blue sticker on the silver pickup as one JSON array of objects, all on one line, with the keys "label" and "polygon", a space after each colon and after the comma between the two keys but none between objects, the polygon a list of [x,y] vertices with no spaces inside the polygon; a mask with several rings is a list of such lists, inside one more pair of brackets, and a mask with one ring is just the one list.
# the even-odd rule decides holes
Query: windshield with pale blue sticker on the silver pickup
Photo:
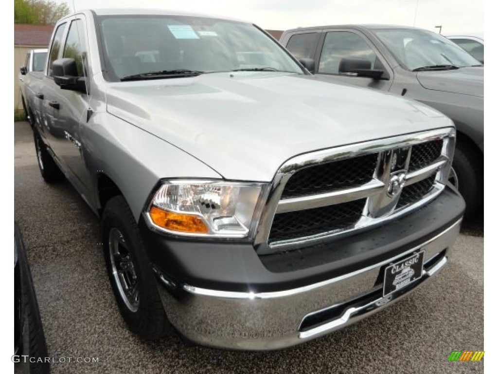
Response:
[{"label": "windshield with pale blue sticker on the silver pickup", "polygon": [[101,53],[109,79],[190,77],[221,71],[303,73],[252,24],[173,15],[101,16]]}]

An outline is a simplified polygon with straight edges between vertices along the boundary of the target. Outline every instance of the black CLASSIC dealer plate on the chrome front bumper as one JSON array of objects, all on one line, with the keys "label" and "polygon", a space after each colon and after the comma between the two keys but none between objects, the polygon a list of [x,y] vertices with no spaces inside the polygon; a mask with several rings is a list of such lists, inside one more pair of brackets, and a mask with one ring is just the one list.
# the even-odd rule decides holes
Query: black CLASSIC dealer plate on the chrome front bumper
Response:
[{"label": "black CLASSIC dealer plate on the chrome front bumper", "polygon": [[406,287],[422,276],[424,251],[387,266],[384,271],[384,296]]}]

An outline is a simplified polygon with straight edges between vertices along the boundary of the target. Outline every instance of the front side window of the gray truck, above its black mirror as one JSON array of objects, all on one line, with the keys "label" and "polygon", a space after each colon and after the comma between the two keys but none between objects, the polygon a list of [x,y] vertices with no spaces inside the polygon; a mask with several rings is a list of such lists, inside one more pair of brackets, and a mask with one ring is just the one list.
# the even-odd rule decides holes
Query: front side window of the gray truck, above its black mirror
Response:
[{"label": "front side window of the gray truck, above its black mirror", "polygon": [[364,60],[371,69],[382,68],[373,49],[363,38],[350,31],[327,32],[318,66],[319,73],[339,74],[343,58]]}]

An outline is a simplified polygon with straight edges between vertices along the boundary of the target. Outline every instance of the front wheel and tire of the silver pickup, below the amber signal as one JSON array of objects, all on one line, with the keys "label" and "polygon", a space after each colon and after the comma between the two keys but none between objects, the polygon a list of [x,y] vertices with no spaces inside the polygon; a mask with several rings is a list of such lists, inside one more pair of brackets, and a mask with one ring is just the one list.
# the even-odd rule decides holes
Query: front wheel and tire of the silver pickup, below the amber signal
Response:
[{"label": "front wheel and tire of the silver pickup, below the amber signal", "polygon": [[172,330],[133,214],[123,196],[111,198],[102,217],[109,279],[128,328],[145,340]]}]

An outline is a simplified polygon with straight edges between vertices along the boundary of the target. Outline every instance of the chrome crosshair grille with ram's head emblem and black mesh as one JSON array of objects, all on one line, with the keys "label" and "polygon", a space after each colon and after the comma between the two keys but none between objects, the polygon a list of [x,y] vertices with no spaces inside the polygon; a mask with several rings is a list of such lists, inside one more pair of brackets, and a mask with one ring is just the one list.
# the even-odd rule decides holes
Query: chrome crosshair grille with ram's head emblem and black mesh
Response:
[{"label": "chrome crosshair grille with ram's head emblem and black mesh", "polygon": [[420,207],[443,190],[454,145],[447,128],[290,159],[273,181],[257,252],[306,247]]}]

